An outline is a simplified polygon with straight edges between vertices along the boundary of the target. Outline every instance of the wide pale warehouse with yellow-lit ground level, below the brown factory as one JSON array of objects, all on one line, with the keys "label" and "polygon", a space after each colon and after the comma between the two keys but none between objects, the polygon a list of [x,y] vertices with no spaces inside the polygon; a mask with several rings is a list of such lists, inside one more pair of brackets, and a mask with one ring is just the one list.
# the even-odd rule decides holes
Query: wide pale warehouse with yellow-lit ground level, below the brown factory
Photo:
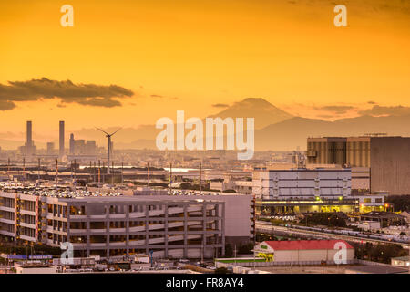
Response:
[{"label": "wide pale warehouse with yellow-lit ground level, below the brown factory", "polygon": [[257,215],[385,211],[383,195],[352,194],[351,169],[290,169],[253,172]]}]

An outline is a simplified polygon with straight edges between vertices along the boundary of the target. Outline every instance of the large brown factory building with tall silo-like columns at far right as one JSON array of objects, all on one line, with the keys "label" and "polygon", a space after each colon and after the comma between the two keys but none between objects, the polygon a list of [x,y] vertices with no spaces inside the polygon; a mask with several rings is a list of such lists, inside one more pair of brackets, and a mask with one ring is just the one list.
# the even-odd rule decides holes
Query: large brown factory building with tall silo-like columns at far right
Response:
[{"label": "large brown factory building with tall silo-like columns at far right", "polygon": [[370,168],[371,193],[410,194],[409,152],[410,137],[374,134],[308,138],[306,155],[308,163]]}]

